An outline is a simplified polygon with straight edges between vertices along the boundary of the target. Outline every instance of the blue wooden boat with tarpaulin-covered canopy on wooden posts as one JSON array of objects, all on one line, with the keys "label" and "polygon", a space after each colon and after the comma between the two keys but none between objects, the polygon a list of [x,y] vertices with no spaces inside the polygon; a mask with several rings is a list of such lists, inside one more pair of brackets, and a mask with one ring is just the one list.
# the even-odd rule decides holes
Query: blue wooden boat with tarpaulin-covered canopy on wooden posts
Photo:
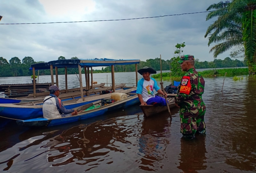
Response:
[{"label": "blue wooden boat with tarpaulin-covered canopy on wooden posts", "polygon": [[[40,93],[35,92],[35,70],[41,70],[41,69],[49,69],[51,72],[51,82],[52,85],[54,85],[54,78],[53,78],[53,68],[55,67],[56,72],[56,85],[58,86],[58,68],[65,68],[65,80],[66,80],[66,95],[67,97],[62,97],[62,100],[66,99],[66,101],[63,101],[63,105],[66,109],[73,109],[77,108],[79,106],[87,105],[88,103],[95,102],[96,100],[101,100],[106,97],[110,97],[110,94],[104,94],[104,95],[98,95],[96,96],[90,96],[90,93],[92,94],[95,91],[104,90],[105,88],[92,90],[93,88],[90,88],[90,75],[89,75],[89,67],[102,67],[102,66],[111,66],[111,79],[112,79],[112,86],[110,87],[113,92],[119,92],[119,93],[130,93],[130,92],[136,92],[137,87],[130,87],[128,90],[117,90],[116,91],[116,85],[114,80],[114,65],[129,65],[129,64],[135,64],[136,67],[136,83],[137,83],[137,64],[140,63],[140,60],[133,59],[133,60],[116,60],[116,59],[62,59],[57,61],[50,61],[47,63],[38,63],[38,64],[32,64],[31,70],[33,70],[33,85],[34,85],[34,99],[37,98],[37,94],[40,95]],[[85,82],[86,87],[84,89],[82,85],[82,70],[81,68],[84,67],[85,71]],[[67,68],[78,68],[79,71],[79,82],[80,82],[80,88],[79,92],[74,93],[67,93]],[[91,73],[91,86],[93,86],[93,73]],[[126,89],[126,88],[125,88]],[[80,94],[80,96],[78,95]],[[86,97],[84,97],[84,94],[86,94]],[[79,96],[79,98],[74,98]],[[72,97],[72,98],[70,98]],[[44,98],[44,97],[43,97]],[[38,118],[43,117],[43,105],[42,100],[35,101],[35,102],[28,102],[28,103],[14,103],[14,104],[0,104],[0,116],[4,118],[12,118],[17,120],[27,120],[32,118]]]}]

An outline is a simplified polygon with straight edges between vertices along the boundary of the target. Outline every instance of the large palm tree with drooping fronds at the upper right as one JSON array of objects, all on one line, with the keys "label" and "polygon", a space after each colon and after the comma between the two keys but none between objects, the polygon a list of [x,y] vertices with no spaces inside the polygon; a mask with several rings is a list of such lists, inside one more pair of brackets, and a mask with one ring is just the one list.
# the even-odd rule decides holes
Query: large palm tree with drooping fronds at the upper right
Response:
[{"label": "large palm tree with drooping fronds at the upper right", "polygon": [[[208,46],[218,43],[210,49],[214,58],[233,46],[244,45],[245,59],[248,62],[249,73],[256,72],[256,0],[232,0],[210,5],[206,20],[218,17],[205,34],[209,36]],[[214,32],[210,34],[212,31]]]}]

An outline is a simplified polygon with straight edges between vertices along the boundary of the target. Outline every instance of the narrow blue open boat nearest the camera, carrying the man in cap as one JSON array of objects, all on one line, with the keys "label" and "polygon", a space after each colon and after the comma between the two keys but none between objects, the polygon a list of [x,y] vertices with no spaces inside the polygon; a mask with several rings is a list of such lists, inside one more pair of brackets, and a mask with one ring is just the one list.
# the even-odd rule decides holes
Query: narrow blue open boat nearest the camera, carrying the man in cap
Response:
[{"label": "narrow blue open boat nearest the camera, carrying the man in cap", "polygon": [[[97,106],[99,105],[99,102],[100,101],[93,102],[93,105]],[[50,127],[50,126],[56,126],[60,124],[71,123],[74,121],[84,120],[91,117],[96,117],[96,116],[105,114],[106,112],[114,111],[120,108],[126,108],[137,103],[139,103],[139,98],[136,95],[136,96],[130,96],[127,99],[120,100],[115,103],[111,103],[109,105],[105,105],[99,108],[81,112],[80,114],[71,116],[71,117],[63,117],[63,118],[56,118],[56,119],[50,119],[50,120],[46,118],[34,118],[30,120],[19,120],[16,122],[19,126],[25,126],[25,127]]]}]

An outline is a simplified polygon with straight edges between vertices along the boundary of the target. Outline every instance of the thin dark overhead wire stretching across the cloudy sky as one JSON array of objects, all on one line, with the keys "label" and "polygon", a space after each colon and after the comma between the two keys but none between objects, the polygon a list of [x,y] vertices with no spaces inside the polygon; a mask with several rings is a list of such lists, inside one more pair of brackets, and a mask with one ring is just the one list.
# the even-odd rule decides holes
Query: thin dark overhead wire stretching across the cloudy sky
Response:
[{"label": "thin dark overhead wire stretching across the cloudy sky", "polygon": [[[251,6],[256,6],[256,5],[251,5]],[[251,6],[244,6],[244,7],[238,7],[238,8],[246,8],[246,7],[251,7]],[[232,9],[238,9],[238,8],[232,8]],[[223,10],[227,10],[227,9],[223,9]],[[185,15],[185,14],[198,14],[198,13],[206,13],[206,12],[214,12],[214,11],[217,11],[217,10],[183,13],[183,14],[170,14],[170,15],[154,16],[154,17],[139,17],[139,18],[112,19],[112,20],[87,20],[87,21],[45,22],[45,23],[0,23],[0,24],[2,24],[2,25],[14,25],[14,24],[52,24],[52,23],[81,23],[81,22],[98,22],[98,21],[121,21],[121,20],[137,20],[137,19],[146,19],[146,18],[178,16],[178,15]]]}]

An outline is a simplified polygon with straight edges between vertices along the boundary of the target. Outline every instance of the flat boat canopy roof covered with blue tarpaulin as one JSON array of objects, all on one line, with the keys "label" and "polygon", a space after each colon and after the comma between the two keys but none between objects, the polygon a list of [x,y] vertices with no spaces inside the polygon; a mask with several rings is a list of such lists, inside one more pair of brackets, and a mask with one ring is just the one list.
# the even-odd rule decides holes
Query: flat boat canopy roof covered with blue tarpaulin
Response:
[{"label": "flat boat canopy roof covered with blue tarpaulin", "polygon": [[139,59],[59,59],[56,61],[32,64],[29,70],[32,70],[32,67],[35,67],[35,70],[50,69],[50,65],[58,68],[78,68],[78,64],[81,67],[105,67],[111,65],[130,65],[139,63]]}]

